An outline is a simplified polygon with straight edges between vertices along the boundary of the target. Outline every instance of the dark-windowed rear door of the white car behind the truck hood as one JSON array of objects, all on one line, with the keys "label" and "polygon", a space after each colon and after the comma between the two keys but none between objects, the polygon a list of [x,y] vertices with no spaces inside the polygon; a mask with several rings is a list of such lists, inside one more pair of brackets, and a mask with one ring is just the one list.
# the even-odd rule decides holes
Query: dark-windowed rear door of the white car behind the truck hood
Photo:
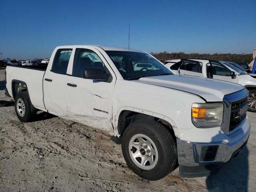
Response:
[{"label": "dark-windowed rear door of the white car behind the truck hood", "polygon": [[198,61],[193,60],[183,60],[180,66],[179,74],[204,77],[204,75],[202,74],[202,64],[200,64]]}]

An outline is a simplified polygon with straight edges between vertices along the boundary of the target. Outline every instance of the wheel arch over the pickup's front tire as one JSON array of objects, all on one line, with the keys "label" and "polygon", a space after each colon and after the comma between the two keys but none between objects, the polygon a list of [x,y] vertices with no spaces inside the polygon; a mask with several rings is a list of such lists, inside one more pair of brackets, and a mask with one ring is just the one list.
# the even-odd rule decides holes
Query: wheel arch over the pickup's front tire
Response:
[{"label": "wheel arch over the pickup's front tire", "polygon": [[168,131],[172,134],[172,136],[179,138],[179,132],[176,127],[176,124],[170,118],[154,112],[149,112],[149,111],[136,109],[136,108],[129,108],[129,107],[124,107],[118,113],[118,117],[116,118],[118,134],[122,137],[124,130],[132,122],[141,120],[141,119],[156,120],[157,122],[160,122],[162,125],[164,125],[168,129]]}]

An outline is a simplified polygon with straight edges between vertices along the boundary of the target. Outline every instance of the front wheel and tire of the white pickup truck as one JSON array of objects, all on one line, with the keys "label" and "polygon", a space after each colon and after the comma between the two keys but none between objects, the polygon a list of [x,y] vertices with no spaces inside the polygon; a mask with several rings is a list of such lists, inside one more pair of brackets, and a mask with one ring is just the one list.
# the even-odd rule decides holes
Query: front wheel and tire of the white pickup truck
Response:
[{"label": "front wheel and tire of the white pickup truck", "polygon": [[[138,149],[131,148],[134,144]],[[122,153],[128,167],[146,180],[159,180],[165,177],[177,164],[174,138],[162,124],[150,119],[135,121],[126,128],[122,136]],[[134,158],[137,155],[141,157]],[[146,161],[146,164],[142,165],[142,158],[151,162]]]}]

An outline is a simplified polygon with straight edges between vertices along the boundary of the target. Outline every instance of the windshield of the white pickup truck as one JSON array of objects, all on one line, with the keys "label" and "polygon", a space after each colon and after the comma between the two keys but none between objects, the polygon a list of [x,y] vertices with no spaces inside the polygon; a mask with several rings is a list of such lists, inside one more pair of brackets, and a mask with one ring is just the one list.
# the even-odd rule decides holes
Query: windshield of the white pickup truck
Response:
[{"label": "windshield of the white pickup truck", "polygon": [[125,80],[173,74],[164,64],[146,53],[128,51],[106,51],[106,53]]}]

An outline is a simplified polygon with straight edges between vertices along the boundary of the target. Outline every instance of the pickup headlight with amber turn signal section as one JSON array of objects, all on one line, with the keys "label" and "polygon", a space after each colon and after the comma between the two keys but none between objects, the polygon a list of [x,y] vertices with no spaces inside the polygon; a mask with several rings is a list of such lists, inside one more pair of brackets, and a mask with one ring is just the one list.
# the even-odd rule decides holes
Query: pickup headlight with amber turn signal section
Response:
[{"label": "pickup headlight with amber turn signal section", "polygon": [[198,128],[218,127],[223,120],[223,104],[194,103],[191,116],[193,124]]}]

